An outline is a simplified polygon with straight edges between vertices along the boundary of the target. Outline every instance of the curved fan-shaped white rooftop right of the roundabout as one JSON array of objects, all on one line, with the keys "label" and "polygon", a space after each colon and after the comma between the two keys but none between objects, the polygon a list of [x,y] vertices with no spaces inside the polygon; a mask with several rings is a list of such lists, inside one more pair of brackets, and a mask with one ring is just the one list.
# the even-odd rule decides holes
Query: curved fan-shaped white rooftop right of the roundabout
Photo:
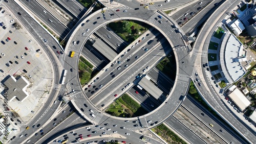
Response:
[{"label": "curved fan-shaped white rooftop right of the roundabout", "polygon": [[230,77],[237,81],[245,74],[245,69],[240,64],[240,58],[244,57],[243,44],[234,36],[230,35],[225,49],[225,63]]}]

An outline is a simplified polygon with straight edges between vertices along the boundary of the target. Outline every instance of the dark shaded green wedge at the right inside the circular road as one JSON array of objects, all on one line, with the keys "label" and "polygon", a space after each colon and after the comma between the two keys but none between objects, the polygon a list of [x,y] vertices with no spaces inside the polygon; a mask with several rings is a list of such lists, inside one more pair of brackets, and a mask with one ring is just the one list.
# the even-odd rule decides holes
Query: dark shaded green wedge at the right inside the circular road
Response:
[{"label": "dark shaded green wedge at the right inside the circular road", "polygon": [[172,55],[171,57],[165,57],[160,63],[157,64],[156,67],[170,79],[175,80],[176,61],[174,55]]}]

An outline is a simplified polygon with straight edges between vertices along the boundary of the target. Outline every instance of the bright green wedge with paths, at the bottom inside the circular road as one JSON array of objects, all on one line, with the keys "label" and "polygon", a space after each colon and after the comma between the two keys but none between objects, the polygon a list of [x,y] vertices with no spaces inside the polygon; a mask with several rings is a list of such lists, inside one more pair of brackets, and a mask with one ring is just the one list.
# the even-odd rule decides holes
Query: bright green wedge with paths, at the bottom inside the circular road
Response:
[{"label": "bright green wedge with paths, at the bottom inside the circular road", "polygon": [[127,94],[118,98],[105,112],[118,117],[136,117],[147,113]]}]

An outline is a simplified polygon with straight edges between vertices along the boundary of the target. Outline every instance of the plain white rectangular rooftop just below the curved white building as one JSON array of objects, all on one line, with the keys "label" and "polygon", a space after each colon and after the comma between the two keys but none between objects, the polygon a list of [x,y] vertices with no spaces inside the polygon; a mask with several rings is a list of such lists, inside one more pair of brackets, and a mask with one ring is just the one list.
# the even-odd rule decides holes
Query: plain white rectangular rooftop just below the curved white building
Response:
[{"label": "plain white rectangular rooftop just below the curved white building", "polygon": [[228,96],[242,111],[251,104],[238,88],[234,89]]}]

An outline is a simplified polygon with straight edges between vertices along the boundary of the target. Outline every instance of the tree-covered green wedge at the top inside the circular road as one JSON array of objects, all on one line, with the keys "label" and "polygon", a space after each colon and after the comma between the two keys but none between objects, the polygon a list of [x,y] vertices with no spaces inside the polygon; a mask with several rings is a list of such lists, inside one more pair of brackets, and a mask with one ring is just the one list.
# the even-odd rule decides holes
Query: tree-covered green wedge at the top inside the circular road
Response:
[{"label": "tree-covered green wedge at the top inside the circular road", "polygon": [[[136,40],[140,35],[142,35],[145,31],[151,28],[150,25],[147,25],[146,23],[143,23],[141,21],[130,20],[129,23],[131,28],[128,29],[131,29],[131,33],[127,33],[122,29],[123,21],[125,20],[114,21],[109,23],[108,26],[127,42],[132,42]],[[140,32],[139,34],[137,33],[138,31]]]}]

